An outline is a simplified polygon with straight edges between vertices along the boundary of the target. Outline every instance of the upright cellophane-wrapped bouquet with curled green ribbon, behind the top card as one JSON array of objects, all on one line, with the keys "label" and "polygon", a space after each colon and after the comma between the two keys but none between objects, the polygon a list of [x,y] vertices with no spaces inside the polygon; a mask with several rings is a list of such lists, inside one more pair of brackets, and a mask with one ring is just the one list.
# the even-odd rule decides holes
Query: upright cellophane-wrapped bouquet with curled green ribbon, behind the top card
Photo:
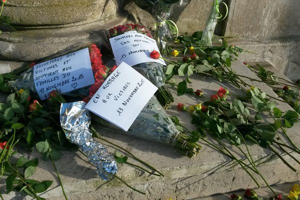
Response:
[{"label": "upright cellophane-wrapped bouquet with curled green ribbon, behind the top card", "polygon": [[163,55],[167,55],[169,48],[167,42],[173,40],[173,35],[178,36],[176,24],[168,17],[172,12],[174,3],[185,6],[186,0],[134,0],[134,3],[141,9],[149,12],[156,20],[154,38],[159,50]]}]

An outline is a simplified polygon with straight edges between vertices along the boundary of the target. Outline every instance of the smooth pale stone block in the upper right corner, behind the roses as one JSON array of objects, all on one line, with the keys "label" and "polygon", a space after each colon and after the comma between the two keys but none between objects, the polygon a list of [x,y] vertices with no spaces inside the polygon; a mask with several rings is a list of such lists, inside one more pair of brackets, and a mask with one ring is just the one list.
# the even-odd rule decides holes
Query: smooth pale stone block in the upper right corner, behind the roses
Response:
[{"label": "smooth pale stone block in the upper right corner, behind the roses", "polygon": [[247,39],[299,35],[297,0],[231,0],[225,35]]}]

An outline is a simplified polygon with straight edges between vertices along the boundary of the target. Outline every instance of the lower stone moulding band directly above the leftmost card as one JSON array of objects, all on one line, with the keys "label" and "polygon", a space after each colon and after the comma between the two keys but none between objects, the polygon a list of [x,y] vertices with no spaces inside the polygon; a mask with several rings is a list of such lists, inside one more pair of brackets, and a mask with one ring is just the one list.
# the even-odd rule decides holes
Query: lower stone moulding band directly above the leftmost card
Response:
[{"label": "lower stone moulding band directly above the leftmost card", "polygon": [[0,34],[0,59],[34,61],[72,46],[90,42],[107,43],[103,31],[126,22],[126,18],[117,17],[105,24],[94,22],[72,27],[6,32]]}]

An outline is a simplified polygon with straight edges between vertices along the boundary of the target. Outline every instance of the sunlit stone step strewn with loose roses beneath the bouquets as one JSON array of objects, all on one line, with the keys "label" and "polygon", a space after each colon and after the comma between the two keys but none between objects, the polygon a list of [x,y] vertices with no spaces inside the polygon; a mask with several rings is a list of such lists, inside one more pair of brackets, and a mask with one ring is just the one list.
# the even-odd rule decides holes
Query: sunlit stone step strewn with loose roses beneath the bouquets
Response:
[{"label": "sunlit stone step strewn with loose roses beneath the bouquets", "polygon": [[[232,61],[232,68],[237,74],[246,74],[247,77],[258,79],[258,77],[238,59]],[[251,81],[247,78],[242,79],[250,85],[255,85],[271,96],[277,96],[272,89],[263,82]],[[175,81],[181,81],[181,78],[175,77]],[[192,75],[192,83],[189,85],[189,87],[192,87],[194,90],[203,90],[204,95],[207,97],[214,94],[219,86],[228,88],[230,94],[241,94],[239,89],[226,82],[219,82],[214,78],[204,78],[197,74]],[[190,116],[186,112],[177,111],[176,104],[178,102],[183,102],[186,105],[196,104],[199,103],[199,98],[195,98],[195,96],[192,95],[177,96],[176,89],[173,87],[169,87],[169,90],[175,98],[175,103],[167,112],[170,115],[178,116],[187,128],[194,129],[195,126],[190,123]],[[234,96],[229,96],[229,98],[232,99]],[[292,109],[289,105],[281,101],[276,101],[276,103],[277,107],[281,110]],[[300,124],[295,123],[292,128],[288,129],[289,136],[298,146],[300,146],[300,138],[297,136],[299,128]],[[142,195],[129,189],[119,180],[113,179],[109,182],[102,181],[96,176],[94,168],[80,152],[63,151],[62,158],[55,161],[55,164],[61,175],[69,199],[94,200],[119,198],[163,200],[169,199],[170,197],[172,199],[192,199],[210,196],[216,193],[226,193],[256,187],[254,181],[242,168],[236,165],[230,158],[210,148],[205,143],[200,142],[202,149],[199,155],[189,159],[182,156],[172,147],[164,144],[136,139],[106,131],[100,127],[97,127],[97,130],[104,138],[130,150],[137,157],[159,169],[164,174],[164,177],[149,176],[128,165],[119,165],[117,175],[123,178],[128,184],[145,191],[146,195]],[[111,145],[105,145],[113,152]],[[236,152],[236,149],[232,146],[228,146],[228,148]],[[244,145],[242,145],[242,148],[245,150]],[[260,163],[258,168],[269,184],[293,182],[300,179],[299,173],[290,170],[281,160],[275,158],[270,151],[257,145],[249,145],[249,150],[253,159]],[[236,152],[235,155],[243,158],[238,152]],[[300,169],[300,166],[296,165],[296,163],[289,159],[284,153],[281,153],[281,155],[297,170]],[[300,159],[299,154],[293,153],[293,155],[297,159]],[[36,156],[38,158],[41,157],[35,151],[28,154],[28,157]],[[255,175],[254,177],[259,181],[261,186],[265,185],[258,176]],[[37,180],[51,179],[54,181],[49,190],[40,196],[50,200],[64,199],[50,161],[39,159],[38,168],[32,178]],[[3,183],[4,180],[1,179],[1,193],[4,191]],[[267,192],[270,196],[271,192]],[[4,194],[4,199],[17,200],[30,198],[23,197],[19,193],[9,193]]]}]

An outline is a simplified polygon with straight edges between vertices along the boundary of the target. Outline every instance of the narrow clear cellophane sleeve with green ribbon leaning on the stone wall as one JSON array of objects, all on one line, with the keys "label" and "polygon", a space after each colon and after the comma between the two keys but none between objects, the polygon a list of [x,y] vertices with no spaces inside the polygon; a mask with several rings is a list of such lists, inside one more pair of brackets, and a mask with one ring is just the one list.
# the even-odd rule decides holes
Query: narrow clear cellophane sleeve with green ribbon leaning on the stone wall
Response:
[{"label": "narrow clear cellophane sleeve with green ribbon leaning on the stone wall", "polygon": [[[203,46],[212,46],[211,38],[213,36],[216,23],[220,18],[222,18],[222,15],[219,12],[220,3],[223,3],[226,6],[226,9],[228,9],[226,3],[222,2],[222,0],[213,0],[213,5],[211,7],[210,14],[206,21],[206,25],[202,32],[202,37],[200,40],[200,44]],[[226,17],[226,15],[227,14],[225,14],[223,19]]]}]

